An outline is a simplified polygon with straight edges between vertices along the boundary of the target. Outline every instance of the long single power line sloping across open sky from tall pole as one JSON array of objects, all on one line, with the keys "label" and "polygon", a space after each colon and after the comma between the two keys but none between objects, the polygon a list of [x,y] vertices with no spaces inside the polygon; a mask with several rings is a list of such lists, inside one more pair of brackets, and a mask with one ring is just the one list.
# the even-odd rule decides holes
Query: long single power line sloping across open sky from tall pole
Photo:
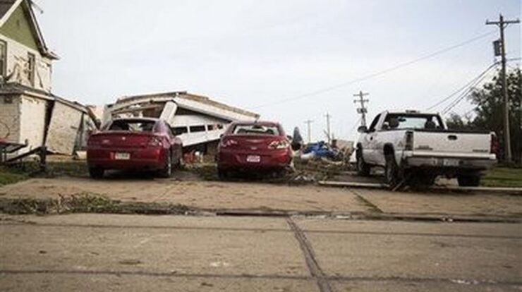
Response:
[{"label": "long single power line sloping across open sky from tall pole", "polygon": [[452,49],[463,47],[466,44],[470,44],[471,42],[475,42],[478,39],[482,39],[482,38],[487,37],[489,35],[492,35],[494,33],[495,32],[492,31],[492,32],[487,32],[487,33],[482,34],[482,35],[478,35],[477,37],[473,37],[471,39],[467,39],[464,42],[459,42],[458,44],[454,44],[454,45],[452,45],[450,47],[447,47],[447,48],[444,48],[444,49],[439,49],[438,51],[435,51],[435,52],[433,52],[431,54],[427,54],[425,56],[421,56],[420,58],[413,59],[411,61],[407,61],[407,62],[404,62],[404,63],[399,63],[396,66],[392,66],[390,68],[384,69],[382,71],[377,71],[375,73],[371,73],[371,74],[365,75],[365,76],[360,77],[360,78],[349,80],[349,81],[346,81],[345,83],[339,83],[337,85],[324,87],[324,88],[322,88],[320,90],[315,90],[315,91],[312,91],[312,92],[304,93],[302,95],[296,95],[295,97],[288,97],[288,98],[285,98],[285,99],[281,99],[278,102],[271,102],[271,103],[267,103],[267,104],[260,104],[260,105],[258,105],[256,107],[252,107],[251,109],[259,109],[259,108],[262,108],[262,107],[268,107],[268,106],[272,106],[272,105],[275,105],[275,104],[284,104],[286,102],[292,102],[294,100],[303,99],[303,98],[306,98],[306,97],[311,97],[313,95],[318,95],[318,94],[323,93],[323,92],[329,92],[329,91],[332,91],[332,90],[336,90],[339,87],[345,87],[345,86],[351,85],[353,83],[358,83],[360,81],[364,81],[364,80],[368,80],[368,79],[371,79],[371,78],[375,78],[377,76],[389,73],[391,71],[396,71],[396,70],[398,70],[400,68],[403,68],[403,67],[406,67],[406,66],[410,66],[413,63],[417,63],[417,62],[423,61],[425,59],[430,59],[433,56],[437,56],[439,54],[443,54],[443,53],[445,53],[447,51],[451,51]]}]

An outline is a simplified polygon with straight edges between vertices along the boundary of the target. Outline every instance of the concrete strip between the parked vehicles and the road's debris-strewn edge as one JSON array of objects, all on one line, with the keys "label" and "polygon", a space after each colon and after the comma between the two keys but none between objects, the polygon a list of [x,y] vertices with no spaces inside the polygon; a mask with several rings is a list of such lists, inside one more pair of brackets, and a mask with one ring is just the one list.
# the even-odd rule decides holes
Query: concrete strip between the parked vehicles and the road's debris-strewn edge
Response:
[{"label": "concrete strip between the parked vehicles and the road's debris-strewn edge", "polygon": [[34,178],[4,185],[0,188],[0,199],[58,199],[85,193],[123,202],[179,204],[207,211],[522,218],[520,195],[390,192],[255,182]]}]

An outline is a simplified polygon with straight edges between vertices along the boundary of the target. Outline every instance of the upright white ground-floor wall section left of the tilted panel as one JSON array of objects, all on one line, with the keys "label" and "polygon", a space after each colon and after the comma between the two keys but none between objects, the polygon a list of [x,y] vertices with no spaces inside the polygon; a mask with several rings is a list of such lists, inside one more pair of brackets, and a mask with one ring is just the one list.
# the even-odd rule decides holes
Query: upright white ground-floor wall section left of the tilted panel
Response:
[{"label": "upright white ground-floor wall section left of the tilted panel", "polygon": [[26,95],[22,95],[21,99],[19,141],[27,139],[29,150],[32,150],[44,143],[47,100]]}]

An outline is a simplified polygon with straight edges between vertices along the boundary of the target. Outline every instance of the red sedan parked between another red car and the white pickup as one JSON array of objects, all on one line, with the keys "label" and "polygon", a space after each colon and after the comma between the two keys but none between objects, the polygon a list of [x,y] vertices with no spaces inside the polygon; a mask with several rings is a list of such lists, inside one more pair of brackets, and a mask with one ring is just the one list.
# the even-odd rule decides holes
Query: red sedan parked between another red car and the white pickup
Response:
[{"label": "red sedan parked between another red car and the white pickup", "polygon": [[279,123],[234,122],[221,137],[217,150],[220,178],[231,171],[284,173],[292,160],[290,142]]}]

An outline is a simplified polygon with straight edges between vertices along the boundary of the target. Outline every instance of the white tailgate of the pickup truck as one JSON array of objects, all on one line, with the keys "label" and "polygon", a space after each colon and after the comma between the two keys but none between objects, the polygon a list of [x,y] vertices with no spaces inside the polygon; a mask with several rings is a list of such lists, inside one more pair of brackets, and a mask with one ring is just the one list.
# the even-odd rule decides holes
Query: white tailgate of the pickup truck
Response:
[{"label": "white tailgate of the pickup truck", "polygon": [[489,133],[459,131],[418,131],[413,133],[413,151],[454,154],[459,157],[487,157],[490,154]]}]

